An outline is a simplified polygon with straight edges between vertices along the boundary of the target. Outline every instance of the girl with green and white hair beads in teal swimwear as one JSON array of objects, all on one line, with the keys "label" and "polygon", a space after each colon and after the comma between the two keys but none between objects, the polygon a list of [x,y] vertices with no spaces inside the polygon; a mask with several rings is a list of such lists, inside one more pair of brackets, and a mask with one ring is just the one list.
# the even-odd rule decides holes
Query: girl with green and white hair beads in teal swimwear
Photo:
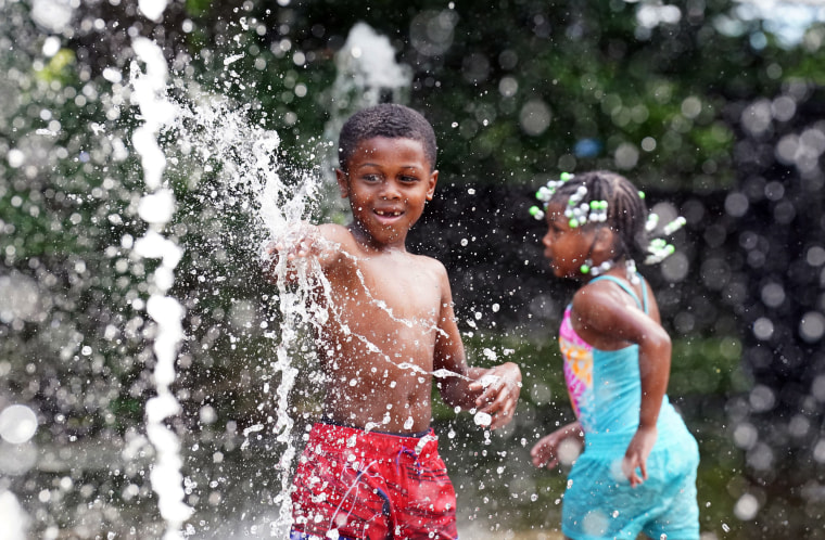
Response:
[{"label": "girl with green and white hair beads in teal swimwear", "polygon": [[[671,340],[635,260],[673,247],[648,244],[653,229],[640,194],[609,171],[562,175],[537,194],[546,216],[545,256],[558,278],[583,281],[564,311],[559,345],[576,421],[533,447],[551,468],[566,439],[584,452],[568,477],[562,532],[570,539],[699,538],[699,451],[668,401]],[[669,223],[671,234],[684,219]]]}]

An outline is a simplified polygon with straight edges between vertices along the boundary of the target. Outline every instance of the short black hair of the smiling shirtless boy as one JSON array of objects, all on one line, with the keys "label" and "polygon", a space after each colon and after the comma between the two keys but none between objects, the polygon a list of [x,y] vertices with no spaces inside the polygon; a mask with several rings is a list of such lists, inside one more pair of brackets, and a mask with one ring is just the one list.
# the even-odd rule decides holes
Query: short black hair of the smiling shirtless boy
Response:
[{"label": "short black hair of the smiling shirtless boy", "polygon": [[338,140],[338,160],[346,170],[355,146],[366,139],[386,137],[419,141],[424,147],[424,156],[430,162],[430,170],[435,169],[435,132],[420,113],[397,103],[381,103],[363,108],[352,115],[341,128]]}]

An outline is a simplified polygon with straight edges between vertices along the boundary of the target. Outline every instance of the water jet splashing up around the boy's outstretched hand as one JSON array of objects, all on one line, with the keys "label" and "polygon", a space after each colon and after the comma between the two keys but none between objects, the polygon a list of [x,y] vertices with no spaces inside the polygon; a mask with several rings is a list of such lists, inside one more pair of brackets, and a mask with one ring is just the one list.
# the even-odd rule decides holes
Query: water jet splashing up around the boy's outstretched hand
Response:
[{"label": "water jet splashing up around the boy's outstretched hand", "polygon": [[[181,104],[179,119],[170,129],[181,149],[191,152],[202,163],[215,164],[220,170],[219,197],[211,197],[216,207],[241,208],[263,228],[268,240],[262,246],[262,259],[266,261],[266,246],[272,242],[289,242],[301,223],[308,219],[320,194],[320,179],[301,173],[297,180],[287,181],[278,173],[276,151],[278,134],[251,125],[242,112],[219,97],[200,95],[196,103]],[[271,268],[277,280],[277,305],[280,322],[277,331],[266,334],[277,346],[270,372],[261,388],[262,403],[268,398],[269,377],[280,374],[275,397],[276,417],[272,425],[255,424],[244,429],[242,448],[249,446],[252,435],[266,434],[284,445],[277,472],[281,489],[275,503],[280,504],[277,519],[270,524],[270,535],[283,538],[292,525],[289,480],[295,448],[292,443],[293,419],[289,415],[289,395],[297,375],[292,359],[304,343],[308,325],[322,324],[327,312],[318,303],[308,301],[315,284],[323,284],[322,277],[310,261],[299,265],[299,286],[285,285],[285,259]]]}]

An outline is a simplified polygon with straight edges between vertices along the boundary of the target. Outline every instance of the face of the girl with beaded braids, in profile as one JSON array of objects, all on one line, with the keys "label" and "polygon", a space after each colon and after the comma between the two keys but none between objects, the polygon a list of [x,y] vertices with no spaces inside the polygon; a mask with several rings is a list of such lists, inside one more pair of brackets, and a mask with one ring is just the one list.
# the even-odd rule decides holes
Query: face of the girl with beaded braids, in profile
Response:
[{"label": "face of the girl with beaded braids, in profile", "polygon": [[581,227],[571,229],[561,203],[550,202],[545,214],[547,234],[542,239],[542,244],[554,274],[557,278],[581,278],[581,267],[591,256],[594,232],[584,231]]}]

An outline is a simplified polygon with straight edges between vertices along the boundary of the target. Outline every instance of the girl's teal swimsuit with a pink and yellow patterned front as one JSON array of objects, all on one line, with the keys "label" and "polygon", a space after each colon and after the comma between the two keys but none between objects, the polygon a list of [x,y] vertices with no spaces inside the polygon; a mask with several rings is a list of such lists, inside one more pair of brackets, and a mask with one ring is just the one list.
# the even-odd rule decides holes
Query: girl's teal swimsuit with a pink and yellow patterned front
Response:
[{"label": "girl's teal swimsuit with a pink and yellow patterned front", "polygon": [[[597,280],[617,283],[648,312],[646,287],[639,301],[622,280],[602,275],[593,281]],[[559,345],[570,400],[584,430],[585,449],[568,477],[562,531],[574,540],[635,539],[639,532],[655,539],[697,540],[696,439],[664,396],[657,422],[658,438],[647,460],[648,479],[631,487],[621,465],[638,427],[642,403],[638,346],[599,350],[575,333],[570,312],[568,306]]]}]

